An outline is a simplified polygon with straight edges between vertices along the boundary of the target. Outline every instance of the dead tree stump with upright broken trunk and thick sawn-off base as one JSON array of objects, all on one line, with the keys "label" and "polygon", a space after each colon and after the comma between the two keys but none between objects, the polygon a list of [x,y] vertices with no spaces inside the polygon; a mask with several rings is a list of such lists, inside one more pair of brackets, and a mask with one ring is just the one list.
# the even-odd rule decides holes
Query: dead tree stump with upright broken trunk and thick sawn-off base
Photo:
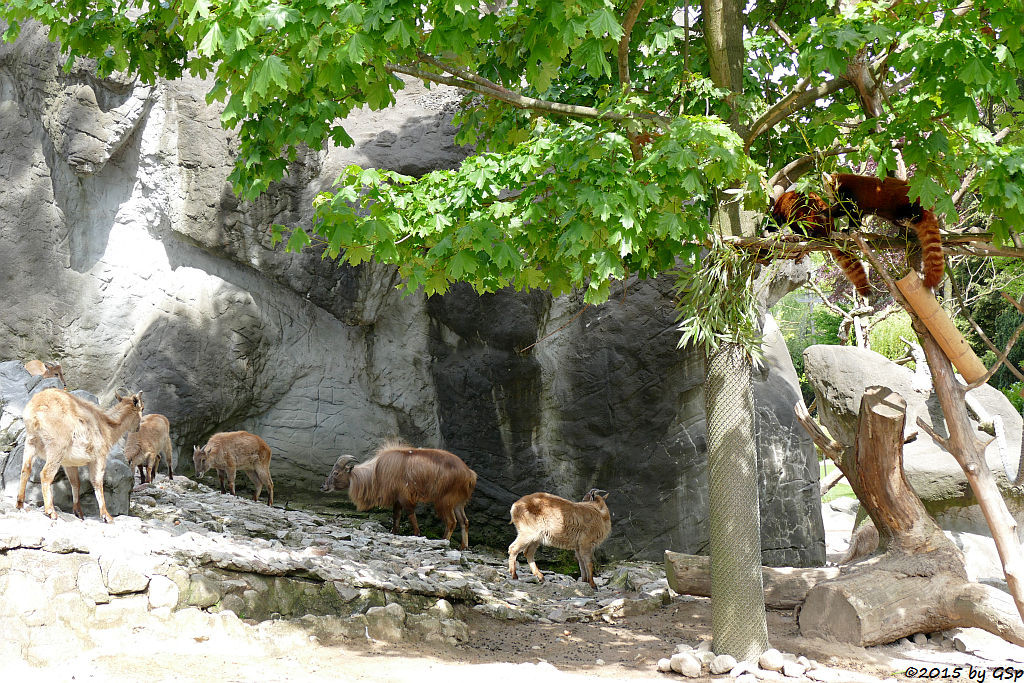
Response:
[{"label": "dead tree stump with upright broken trunk and thick sawn-off base", "polygon": [[[904,475],[905,422],[906,401],[899,394],[885,387],[864,392],[854,445],[842,450],[837,464],[874,523],[884,552],[808,591],[800,610],[805,636],[878,645],[914,633],[981,626],[977,610],[969,613],[963,599],[979,597],[980,587],[968,582],[961,552]],[[999,617],[982,628],[1021,642],[1024,628],[1013,613],[1004,613],[1006,604],[999,601]]]}]

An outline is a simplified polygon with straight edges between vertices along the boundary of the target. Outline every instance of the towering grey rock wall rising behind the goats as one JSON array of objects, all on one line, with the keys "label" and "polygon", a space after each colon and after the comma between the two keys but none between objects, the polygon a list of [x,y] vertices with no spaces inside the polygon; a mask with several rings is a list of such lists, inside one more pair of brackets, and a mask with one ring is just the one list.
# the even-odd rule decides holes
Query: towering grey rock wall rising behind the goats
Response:
[{"label": "towering grey rock wall rising behind the goats", "polygon": [[[171,421],[175,471],[216,431],[260,434],[281,501],[400,435],[477,471],[472,543],[506,547],[523,495],[599,486],[612,492],[603,557],[707,547],[702,362],[676,349],[669,280],[586,308],[463,287],[402,297],[393,267],[272,248],[268,225],[308,224],[348,164],[458,166],[458,92],[409,83],[396,108],[346,121],[354,146],[305,153],[247,203],[224,180],[237,139],[208,83],[151,88],[60,63],[38,27],[0,45],[0,358],[59,359],[70,388],[102,403],[144,390]],[[755,384],[764,560],[816,564],[817,469],[783,356]]]}]

